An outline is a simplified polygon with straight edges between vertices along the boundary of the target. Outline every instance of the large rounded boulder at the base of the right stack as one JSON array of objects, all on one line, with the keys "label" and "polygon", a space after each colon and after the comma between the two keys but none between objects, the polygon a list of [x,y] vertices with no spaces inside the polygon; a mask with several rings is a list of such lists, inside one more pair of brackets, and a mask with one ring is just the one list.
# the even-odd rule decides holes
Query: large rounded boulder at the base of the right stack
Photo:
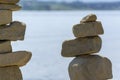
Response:
[{"label": "large rounded boulder at the base of the right stack", "polygon": [[70,80],[108,80],[113,77],[111,61],[98,55],[75,58],[69,65]]}]

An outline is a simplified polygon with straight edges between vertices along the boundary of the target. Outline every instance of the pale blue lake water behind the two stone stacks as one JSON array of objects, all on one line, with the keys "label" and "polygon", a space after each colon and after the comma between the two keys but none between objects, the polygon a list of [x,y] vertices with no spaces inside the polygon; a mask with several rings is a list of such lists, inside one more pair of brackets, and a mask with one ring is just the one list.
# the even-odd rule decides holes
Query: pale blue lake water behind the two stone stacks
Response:
[{"label": "pale blue lake water behind the two stone stacks", "polygon": [[120,11],[20,11],[13,19],[27,24],[24,41],[13,42],[13,50],[32,52],[31,61],[22,67],[24,80],[69,80],[68,65],[73,58],[61,57],[64,40],[74,39],[72,27],[89,13],[102,21],[105,34],[99,55],[113,63],[113,80],[120,79]]}]

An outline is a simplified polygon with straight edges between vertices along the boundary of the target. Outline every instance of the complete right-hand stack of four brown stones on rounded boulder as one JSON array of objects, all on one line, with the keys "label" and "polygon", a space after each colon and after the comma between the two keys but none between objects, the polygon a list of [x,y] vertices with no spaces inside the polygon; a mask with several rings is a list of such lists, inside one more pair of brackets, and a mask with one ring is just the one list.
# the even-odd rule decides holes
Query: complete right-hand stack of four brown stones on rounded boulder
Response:
[{"label": "complete right-hand stack of four brown stones on rounded boulder", "polygon": [[62,56],[76,57],[69,65],[70,80],[108,80],[112,76],[111,61],[94,53],[101,49],[104,33],[95,14],[85,16],[80,24],[73,26],[76,39],[67,40],[62,45]]}]

